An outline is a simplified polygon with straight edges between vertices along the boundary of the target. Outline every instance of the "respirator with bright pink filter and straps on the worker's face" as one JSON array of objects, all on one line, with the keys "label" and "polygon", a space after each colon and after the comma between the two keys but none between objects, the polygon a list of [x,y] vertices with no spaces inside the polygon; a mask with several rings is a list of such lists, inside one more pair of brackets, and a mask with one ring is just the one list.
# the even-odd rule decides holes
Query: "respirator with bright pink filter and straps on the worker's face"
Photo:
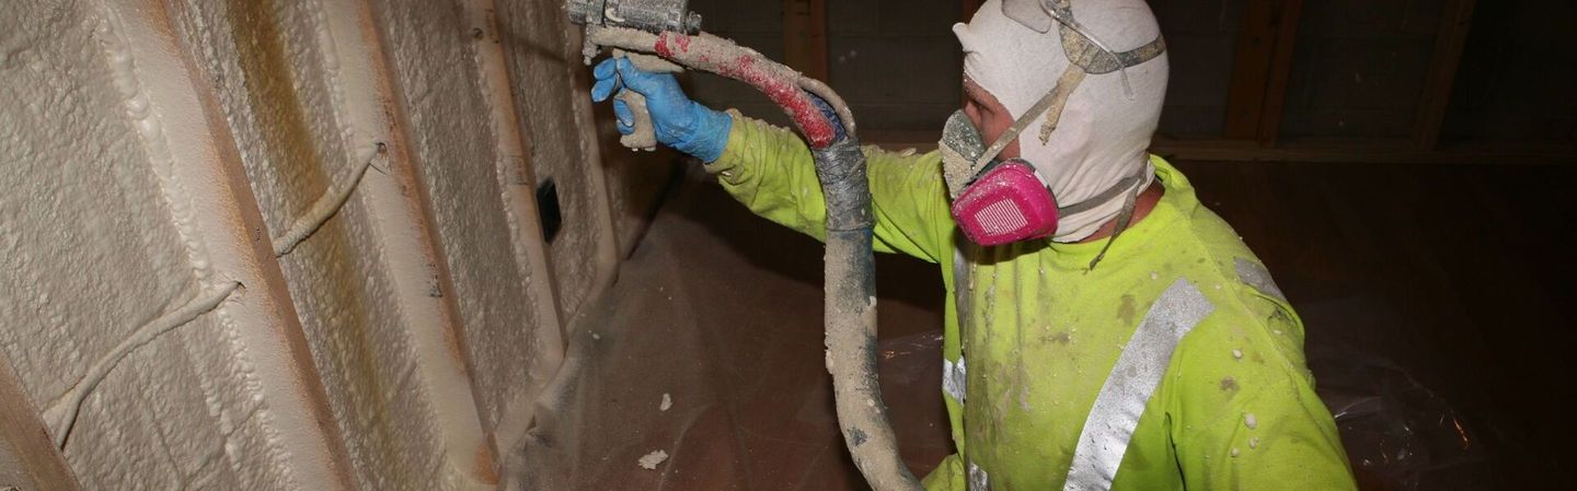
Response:
[{"label": "respirator with bright pink filter and straps on the worker's face", "polygon": [[1061,77],[1035,105],[1014,120],[990,146],[986,146],[979,131],[962,110],[948,118],[941,131],[938,150],[943,161],[943,178],[953,198],[953,219],[959,230],[975,244],[1001,246],[1030,239],[1044,239],[1057,233],[1058,219],[1101,206],[1126,194],[1113,238],[1132,219],[1143,167],[1124,176],[1102,192],[1079,203],[1058,203],[1049,183],[1036,172],[1035,164],[1023,159],[997,159],[1025,127],[1046,115],[1039,127],[1041,145],[1049,142],[1061,120],[1063,109],[1079,83],[1090,74],[1121,72],[1124,94],[1132,99],[1128,85],[1128,66],[1158,57],[1164,49],[1161,38],[1128,52],[1113,52],[1096,41],[1072,19],[1069,0],[1005,2],[1003,13],[1012,20],[1036,31],[1047,33],[1061,25],[1063,50],[1068,68]]}]

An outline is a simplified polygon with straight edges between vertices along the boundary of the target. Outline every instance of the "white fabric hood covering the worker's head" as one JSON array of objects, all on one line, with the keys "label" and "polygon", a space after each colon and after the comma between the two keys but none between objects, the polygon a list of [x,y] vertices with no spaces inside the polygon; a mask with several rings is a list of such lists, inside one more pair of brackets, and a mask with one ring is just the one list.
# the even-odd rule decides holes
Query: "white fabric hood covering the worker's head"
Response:
[{"label": "white fabric hood covering the worker's head", "polygon": [[[1161,35],[1143,0],[1071,5],[1072,19],[1085,33],[1115,52],[1145,46]],[[1057,85],[1071,63],[1058,28],[1046,33],[1028,28],[1003,14],[1001,0],[987,0],[970,24],[953,25],[953,33],[964,44],[964,76],[995,96],[1016,120]],[[1090,74],[1069,96],[1050,140],[1042,145],[1038,131],[1046,113],[1019,137],[1020,156],[1041,173],[1060,206],[1090,200],[1135,173],[1137,189],[1154,181],[1146,148],[1167,91],[1165,54],[1126,71],[1131,93],[1124,93],[1121,71]],[[1060,217],[1052,239],[1090,238],[1118,216],[1128,195],[1117,194],[1099,206]]]}]

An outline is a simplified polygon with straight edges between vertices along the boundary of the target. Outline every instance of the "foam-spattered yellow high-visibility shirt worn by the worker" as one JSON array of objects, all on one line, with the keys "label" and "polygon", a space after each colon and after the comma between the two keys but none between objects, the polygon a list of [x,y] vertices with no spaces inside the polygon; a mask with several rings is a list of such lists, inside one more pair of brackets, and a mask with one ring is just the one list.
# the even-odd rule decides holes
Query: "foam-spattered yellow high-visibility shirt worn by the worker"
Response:
[{"label": "foam-spattered yellow high-visibility shirt worn by the worker", "polygon": [[[826,208],[804,142],[730,113],[727,150],[708,170],[762,217],[825,239]],[[867,148],[866,156],[875,249],[937,263],[949,297],[943,398],[959,453],[926,478],[929,489],[1060,489],[1080,452],[1117,455],[1112,489],[1355,489],[1304,364],[1303,321],[1170,164],[1151,157],[1165,195],[1091,271],[1104,239],[998,247],[959,239],[937,153]],[[960,271],[973,305],[964,326],[959,255],[968,258]],[[1154,330],[1143,326],[1184,330],[1162,343],[1169,359],[1151,368],[1146,397],[1109,389],[1107,409],[1093,415],[1102,387],[1145,371],[1143,349],[1128,349],[1140,345],[1140,330]],[[1124,349],[1135,362],[1118,367]],[[1107,428],[1121,426],[1110,422],[1121,420],[1112,408],[1123,403],[1137,422]],[[1093,441],[1082,444],[1082,434]]]}]

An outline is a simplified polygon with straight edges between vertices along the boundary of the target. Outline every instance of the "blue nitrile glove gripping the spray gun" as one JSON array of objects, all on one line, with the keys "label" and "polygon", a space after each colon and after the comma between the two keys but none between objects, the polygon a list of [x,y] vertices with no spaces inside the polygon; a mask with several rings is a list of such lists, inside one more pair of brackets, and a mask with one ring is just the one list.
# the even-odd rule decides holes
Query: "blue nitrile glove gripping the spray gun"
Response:
[{"label": "blue nitrile glove gripping the spray gun", "polygon": [[[733,118],[691,101],[672,74],[642,71],[628,58],[602,60],[591,74],[596,77],[591,101],[607,101],[618,88],[634,90],[647,96],[647,112],[651,113],[651,126],[659,143],[695,156],[702,162],[722,157]],[[628,135],[636,131],[632,126],[636,118],[624,101],[613,101],[613,115],[618,116],[618,132]]]}]

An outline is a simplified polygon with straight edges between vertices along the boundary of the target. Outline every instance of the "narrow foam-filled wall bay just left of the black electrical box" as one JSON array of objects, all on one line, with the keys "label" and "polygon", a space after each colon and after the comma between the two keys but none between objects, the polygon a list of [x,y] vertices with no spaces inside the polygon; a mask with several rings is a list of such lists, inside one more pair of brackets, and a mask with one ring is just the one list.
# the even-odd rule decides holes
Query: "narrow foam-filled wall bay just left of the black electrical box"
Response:
[{"label": "narrow foam-filled wall bay just left of the black electrical box", "polygon": [[557,357],[542,354],[560,337],[547,269],[536,268],[546,249],[531,168],[514,110],[495,105],[513,99],[486,6],[388,0],[374,11],[492,430],[546,384]]}]

